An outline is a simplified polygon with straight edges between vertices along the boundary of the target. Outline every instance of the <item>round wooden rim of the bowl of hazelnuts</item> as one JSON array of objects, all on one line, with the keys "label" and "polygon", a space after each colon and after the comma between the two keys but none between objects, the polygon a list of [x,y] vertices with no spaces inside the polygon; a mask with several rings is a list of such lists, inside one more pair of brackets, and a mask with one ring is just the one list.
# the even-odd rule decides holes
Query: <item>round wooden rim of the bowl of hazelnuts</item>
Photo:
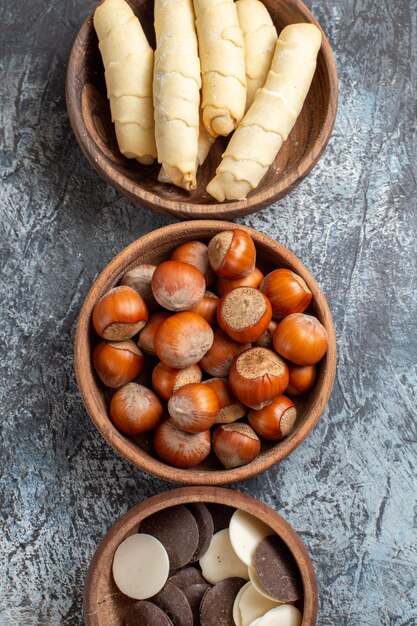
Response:
[{"label": "round wooden rim of the bowl of hazelnuts", "polygon": [[[255,241],[255,245],[263,245],[284,257],[298,274],[306,280],[317,306],[322,312],[322,323],[328,333],[328,350],[324,357],[322,390],[315,399],[308,415],[308,419],[299,425],[293,433],[279,442],[277,449],[271,448],[264,456],[257,457],[252,463],[234,469],[198,470],[195,468],[178,469],[143,451],[137,444],[126,438],[112,424],[108,412],[103,416],[96,405],[92,389],[97,389],[97,382],[92,373],[93,368],[85,370],[83,364],[86,359],[91,362],[91,350],[89,348],[89,333],[91,329],[91,312],[97,300],[107,291],[108,283],[115,284],[121,277],[120,266],[132,261],[143,245],[157,244],[161,237],[169,236],[175,241],[176,234],[187,233],[190,239],[198,238],[199,231],[211,230],[213,234],[222,230],[243,229],[248,232]],[[162,228],[158,228],[131,243],[117,254],[103,269],[93,282],[84,303],[82,305],[75,335],[74,346],[75,374],[81,397],[88,414],[96,428],[104,439],[129,463],[144,470],[153,476],[169,482],[186,485],[225,485],[256,476],[270,467],[276,465],[297,448],[316,426],[330,397],[336,370],[336,337],[330,309],[327,301],[317,282],[304,266],[304,264],[288,248],[278,243],[268,235],[247,226],[223,221],[192,221],[176,222]]]}]

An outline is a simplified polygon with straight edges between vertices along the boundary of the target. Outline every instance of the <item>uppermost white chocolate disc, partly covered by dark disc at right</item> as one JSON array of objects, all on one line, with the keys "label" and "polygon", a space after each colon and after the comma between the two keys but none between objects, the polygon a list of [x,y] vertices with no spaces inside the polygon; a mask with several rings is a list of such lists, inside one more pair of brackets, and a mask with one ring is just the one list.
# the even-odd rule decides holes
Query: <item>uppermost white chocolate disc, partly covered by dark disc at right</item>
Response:
[{"label": "uppermost white chocolate disc, partly covered by dark disc at right", "polygon": [[233,514],[229,532],[233,550],[239,559],[249,566],[253,565],[258,544],[268,535],[274,534],[272,528],[267,524],[241,510]]}]

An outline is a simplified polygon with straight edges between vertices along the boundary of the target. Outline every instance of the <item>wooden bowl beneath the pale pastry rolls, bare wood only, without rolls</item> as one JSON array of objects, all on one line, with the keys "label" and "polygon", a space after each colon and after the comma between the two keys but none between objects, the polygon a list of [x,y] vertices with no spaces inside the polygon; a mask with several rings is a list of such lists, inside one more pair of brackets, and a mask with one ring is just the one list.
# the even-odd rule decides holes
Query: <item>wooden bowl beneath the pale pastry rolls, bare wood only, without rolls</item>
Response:
[{"label": "wooden bowl beneath the pale pastry rolls, bare wood only, without rolls", "polygon": [[[288,24],[309,22],[319,26],[301,0],[263,0],[278,32]],[[129,0],[153,47],[153,2]],[[226,141],[219,138],[199,171],[198,187],[187,193],[159,183],[159,166],[146,167],[123,157],[118,148],[106,97],[104,68],[92,15],[75,39],[66,79],[68,114],[82,151],[97,172],[139,206],[178,219],[236,217],[253,213],[285,196],[314,167],[333,130],[337,109],[337,72],[329,42],[323,45],[317,70],[303,110],[259,187],[246,200],[220,204],[207,192],[221,160]]]}]

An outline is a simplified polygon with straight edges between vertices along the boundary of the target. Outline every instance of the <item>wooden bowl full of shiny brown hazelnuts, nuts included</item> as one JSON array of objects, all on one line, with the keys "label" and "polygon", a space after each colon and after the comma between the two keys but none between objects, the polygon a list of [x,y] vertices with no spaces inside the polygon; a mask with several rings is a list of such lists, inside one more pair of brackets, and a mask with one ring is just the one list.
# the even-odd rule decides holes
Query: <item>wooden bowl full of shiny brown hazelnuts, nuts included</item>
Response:
[{"label": "wooden bowl full of shiny brown hazelnuts, nuts included", "polygon": [[229,222],[141,237],[94,282],[75,340],[94,424],[165,480],[221,485],[288,456],[329,399],[326,299],[287,248]]}]

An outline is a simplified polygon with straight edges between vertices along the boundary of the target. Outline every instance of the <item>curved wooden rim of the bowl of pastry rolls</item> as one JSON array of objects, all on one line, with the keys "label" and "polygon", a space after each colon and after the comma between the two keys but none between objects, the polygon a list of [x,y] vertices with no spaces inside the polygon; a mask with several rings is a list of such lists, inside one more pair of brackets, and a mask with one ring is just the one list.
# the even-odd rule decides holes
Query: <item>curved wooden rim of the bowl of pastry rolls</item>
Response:
[{"label": "curved wooden rim of the bowl of pastry rolls", "polygon": [[286,176],[285,184],[283,184],[282,178],[278,179],[277,183],[271,185],[268,190],[254,190],[254,193],[244,200],[223,203],[213,201],[210,204],[190,204],[186,202],[186,200],[171,200],[143,189],[139,184],[129,178],[129,176],[118,171],[114,165],[108,161],[104,153],[91,138],[84,122],[81,105],[77,99],[77,70],[84,56],[82,52],[82,42],[91,28],[94,15],[93,11],[84,20],[71,48],[65,79],[65,95],[68,117],[74,135],[85,157],[97,173],[134,204],[144,206],[157,213],[171,215],[177,219],[185,220],[189,220],[190,218],[216,219],[220,217],[222,219],[234,219],[242,217],[269,206],[290,193],[297,184],[310,173],[324,152],[333,132],[338,104],[337,67],[326,34],[311,11],[301,0],[292,0],[292,4],[298,9],[305,22],[315,24],[322,33],[320,54],[323,55],[323,66],[327,74],[329,99],[317,140],[312,148],[303,155],[299,166],[294,168],[292,172]]}]

